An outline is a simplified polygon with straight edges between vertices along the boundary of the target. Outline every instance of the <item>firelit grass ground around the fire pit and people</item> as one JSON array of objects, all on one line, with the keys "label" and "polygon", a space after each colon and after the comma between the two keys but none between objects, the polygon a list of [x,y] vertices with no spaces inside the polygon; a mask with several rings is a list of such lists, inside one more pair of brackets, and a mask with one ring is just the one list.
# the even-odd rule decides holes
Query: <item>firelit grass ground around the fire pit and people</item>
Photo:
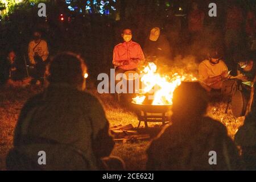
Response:
[{"label": "firelit grass ground around the fire pit and people", "polygon": [[[39,89],[7,89],[0,90],[0,170],[5,169],[5,157],[13,146],[13,132],[20,109],[24,102],[32,95],[40,92]],[[109,119],[110,127],[116,125],[132,124],[138,125],[136,115],[126,107],[119,106],[109,94],[100,96],[104,104],[106,117]],[[228,129],[230,137],[234,137],[236,130],[242,125],[244,118],[233,117],[231,110],[224,113],[225,104],[210,104],[208,115],[220,120]],[[152,127],[152,124],[150,125]],[[146,167],[146,149],[150,142],[117,143],[113,155],[121,157],[129,170],[143,170]]]}]

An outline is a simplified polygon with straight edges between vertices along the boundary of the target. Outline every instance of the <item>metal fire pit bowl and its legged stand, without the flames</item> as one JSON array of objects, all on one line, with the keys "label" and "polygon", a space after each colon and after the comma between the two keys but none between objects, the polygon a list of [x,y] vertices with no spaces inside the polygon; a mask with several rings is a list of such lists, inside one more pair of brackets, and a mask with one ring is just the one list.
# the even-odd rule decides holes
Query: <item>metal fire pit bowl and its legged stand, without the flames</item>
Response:
[{"label": "metal fire pit bowl and its legged stand, without the flames", "polygon": [[147,122],[162,122],[163,125],[171,121],[170,112],[172,105],[150,105],[150,104],[133,104],[137,117],[139,120],[139,125],[141,122],[144,122],[145,127],[147,128]]}]

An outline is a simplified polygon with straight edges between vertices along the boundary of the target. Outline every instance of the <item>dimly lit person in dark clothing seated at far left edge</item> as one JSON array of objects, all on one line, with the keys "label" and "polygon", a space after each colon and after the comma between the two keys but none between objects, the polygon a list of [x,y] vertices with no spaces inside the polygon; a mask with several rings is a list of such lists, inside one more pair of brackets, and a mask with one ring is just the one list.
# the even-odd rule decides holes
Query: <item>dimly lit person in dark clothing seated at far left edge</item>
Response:
[{"label": "dimly lit person in dark clothing seated at far left edge", "polygon": [[23,79],[24,72],[22,66],[16,59],[16,53],[9,51],[7,58],[3,59],[0,67],[0,84],[8,86],[28,85],[30,78]]}]

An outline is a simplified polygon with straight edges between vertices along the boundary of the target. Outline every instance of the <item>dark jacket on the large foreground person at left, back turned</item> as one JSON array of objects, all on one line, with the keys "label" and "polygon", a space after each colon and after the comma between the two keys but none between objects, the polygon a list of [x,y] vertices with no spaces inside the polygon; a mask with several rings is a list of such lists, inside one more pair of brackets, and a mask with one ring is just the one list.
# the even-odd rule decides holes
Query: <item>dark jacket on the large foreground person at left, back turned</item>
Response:
[{"label": "dark jacket on the large foreground person at left, back turned", "polygon": [[38,151],[46,151],[48,164],[40,166],[46,170],[96,170],[113,147],[100,102],[65,84],[28,100],[15,128],[14,148],[34,163]]}]

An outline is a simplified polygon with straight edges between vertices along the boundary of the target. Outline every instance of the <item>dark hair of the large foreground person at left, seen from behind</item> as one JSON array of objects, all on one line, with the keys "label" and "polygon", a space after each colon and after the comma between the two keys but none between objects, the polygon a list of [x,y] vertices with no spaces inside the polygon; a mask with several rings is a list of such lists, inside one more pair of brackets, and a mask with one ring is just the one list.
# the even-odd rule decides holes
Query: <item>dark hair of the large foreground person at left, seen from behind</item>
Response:
[{"label": "dark hair of the large foreground person at left, seen from behind", "polygon": [[[81,65],[84,60],[72,52],[63,52],[56,55],[49,67],[49,82],[79,85],[83,81]],[[85,63],[84,63],[85,64]]]}]

